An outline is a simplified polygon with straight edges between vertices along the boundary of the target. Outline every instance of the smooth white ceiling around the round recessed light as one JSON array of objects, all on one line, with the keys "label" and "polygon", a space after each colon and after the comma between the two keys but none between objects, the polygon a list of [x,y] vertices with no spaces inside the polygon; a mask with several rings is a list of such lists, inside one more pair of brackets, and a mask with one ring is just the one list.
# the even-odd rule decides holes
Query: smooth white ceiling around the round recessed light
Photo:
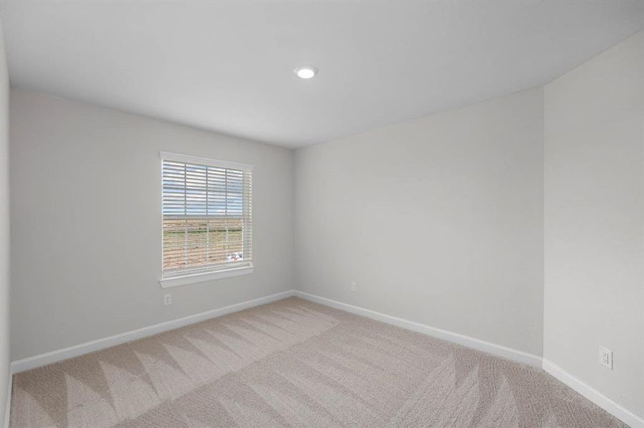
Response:
[{"label": "smooth white ceiling around the round recessed light", "polygon": [[[286,147],[538,86],[644,1],[2,1],[11,85]],[[300,80],[295,66],[319,75]]]}]

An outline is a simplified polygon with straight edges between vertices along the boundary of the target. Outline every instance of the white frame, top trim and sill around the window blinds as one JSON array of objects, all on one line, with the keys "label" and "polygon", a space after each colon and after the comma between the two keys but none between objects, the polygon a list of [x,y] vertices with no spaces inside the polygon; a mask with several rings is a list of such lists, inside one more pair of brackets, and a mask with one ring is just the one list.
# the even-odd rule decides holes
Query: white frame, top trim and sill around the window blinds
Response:
[{"label": "white frame, top trim and sill around the window blinds", "polygon": [[[247,163],[239,163],[239,162],[231,162],[231,161],[219,161],[217,159],[210,159],[210,158],[201,158],[199,156],[189,156],[189,155],[182,155],[179,153],[170,153],[170,152],[160,152],[159,157],[161,158],[161,165],[162,165],[162,180],[161,180],[161,195],[162,195],[162,202],[161,202],[161,215],[162,215],[162,225],[163,225],[163,161],[176,161],[176,162],[184,162],[184,163],[194,163],[197,165],[209,165],[209,166],[214,166],[217,168],[229,168],[229,169],[234,169],[234,170],[247,170],[247,171],[252,171],[254,168],[254,165],[250,165]],[[252,184],[251,184],[252,185]],[[252,190],[250,194],[251,198],[251,206],[252,206]],[[252,232],[251,232],[252,233]],[[251,245],[252,245],[252,240],[253,237],[251,235]],[[248,260],[247,262],[242,262],[242,263],[234,263],[233,265],[230,265],[229,267],[213,267],[209,269],[208,267],[204,267],[202,271],[197,271],[197,272],[190,272],[186,273],[184,275],[179,274],[179,275],[166,275],[164,276],[163,273],[163,226],[161,230],[161,260],[162,260],[162,273],[161,273],[161,278],[159,279],[159,285],[161,285],[162,288],[169,288],[169,287],[178,287],[179,285],[187,285],[187,284],[192,284],[195,282],[205,282],[205,281],[210,281],[210,280],[218,280],[222,278],[227,278],[227,277],[234,277],[237,275],[248,275],[252,272],[254,272],[254,265],[253,265],[253,260]]]}]

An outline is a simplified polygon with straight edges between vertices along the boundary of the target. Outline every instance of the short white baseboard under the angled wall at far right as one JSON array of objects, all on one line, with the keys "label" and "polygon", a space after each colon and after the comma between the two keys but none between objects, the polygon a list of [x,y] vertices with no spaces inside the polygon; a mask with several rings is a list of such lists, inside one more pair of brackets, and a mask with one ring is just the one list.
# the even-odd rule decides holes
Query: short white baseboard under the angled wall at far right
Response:
[{"label": "short white baseboard under the angled wall at far right", "polygon": [[575,391],[582,394],[584,397],[588,398],[591,402],[597,404],[599,407],[604,409],[606,412],[612,414],[614,417],[620,419],[625,424],[628,424],[631,428],[644,428],[644,419],[639,417],[637,414],[631,412],[629,409],[621,406],[620,404],[614,402],[612,399],[606,397],[604,394],[599,392],[597,389],[588,386],[584,382],[580,381],[572,374],[563,370],[563,368],[556,365],[550,360],[543,359],[543,370],[548,372],[558,379],[560,382],[567,384],[569,387],[575,389]]}]

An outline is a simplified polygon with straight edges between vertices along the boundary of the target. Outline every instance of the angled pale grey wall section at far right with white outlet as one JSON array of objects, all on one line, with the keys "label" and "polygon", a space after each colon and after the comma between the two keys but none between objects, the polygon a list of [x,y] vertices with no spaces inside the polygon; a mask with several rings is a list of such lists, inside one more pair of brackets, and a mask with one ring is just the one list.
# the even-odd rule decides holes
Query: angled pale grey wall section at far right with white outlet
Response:
[{"label": "angled pale grey wall section at far right with white outlet", "polygon": [[546,359],[640,417],[643,167],[640,32],[545,87],[544,327]]}]

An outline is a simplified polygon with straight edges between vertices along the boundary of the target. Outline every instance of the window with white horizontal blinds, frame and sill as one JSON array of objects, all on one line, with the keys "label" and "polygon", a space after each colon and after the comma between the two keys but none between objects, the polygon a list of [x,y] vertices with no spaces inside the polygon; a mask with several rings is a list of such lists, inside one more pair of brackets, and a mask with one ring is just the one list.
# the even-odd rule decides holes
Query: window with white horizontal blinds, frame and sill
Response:
[{"label": "window with white horizontal blinds, frame and sill", "polygon": [[252,272],[252,165],[161,157],[162,286]]}]

